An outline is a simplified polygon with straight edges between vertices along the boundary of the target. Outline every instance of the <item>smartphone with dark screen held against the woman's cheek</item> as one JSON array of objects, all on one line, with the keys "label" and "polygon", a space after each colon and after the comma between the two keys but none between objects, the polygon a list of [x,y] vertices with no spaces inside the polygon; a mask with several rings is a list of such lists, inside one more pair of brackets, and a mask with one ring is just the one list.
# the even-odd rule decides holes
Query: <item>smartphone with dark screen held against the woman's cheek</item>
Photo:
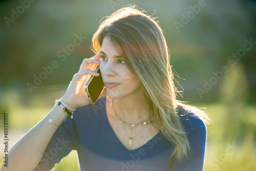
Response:
[{"label": "smartphone with dark screen held against the woman's cheek", "polygon": [[94,71],[99,73],[100,75],[97,77],[94,75],[91,75],[91,77],[86,83],[86,86],[84,86],[87,97],[92,104],[96,102],[96,100],[99,98],[100,94],[105,88],[104,82],[101,77],[99,65],[95,68]]}]

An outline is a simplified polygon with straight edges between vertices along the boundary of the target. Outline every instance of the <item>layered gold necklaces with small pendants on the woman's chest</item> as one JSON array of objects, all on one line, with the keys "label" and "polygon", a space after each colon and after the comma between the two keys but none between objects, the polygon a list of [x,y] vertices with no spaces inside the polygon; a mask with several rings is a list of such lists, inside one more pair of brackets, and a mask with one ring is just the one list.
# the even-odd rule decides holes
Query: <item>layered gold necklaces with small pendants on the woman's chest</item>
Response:
[{"label": "layered gold necklaces with small pendants on the woman's chest", "polygon": [[[116,113],[116,110],[115,110],[115,107],[114,107],[113,99],[112,99],[112,102],[110,103],[110,105],[112,105],[112,109],[113,109],[113,111],[114,111],[114,116],[116,116],[116,117],[118,118],[118,120],[120,121],[121,124],[122,124],[122,123],[131,124],[131,123],[127,123],[127,122],[125,122],[125,121],[122,121],[122,120],[118,117],[118,115],[117,115],[117,113]],[[139,123],[137,123],[137,124],[131,124],[131,125],[133,126],[132,129],[131,129],[130,127],[128,127],[127,125],[125,125],[126,127],[128,127],[128,128],[130,129],[130,134],[132,134],[133,129],[135,128],[134,126],[135,126],[135,125],[138,126],[138,125],[141,124],[141,123],[143,123],[145,126],[144,126],[143,129],[140,130],[140,132],[139,132],[138,134],[136,134],[134,137],[131,137],[131,136],[128,135],[128,133],[127,133],[126,130],[125,130],[124,124],[122,124],[122,125],[123,125],[123,129],[124,129],[126,135],[129,137],[129,145],[130,145],[130,146],[132,145],[133,139],[134,139],[137,135],[139,135],[139,134],[144,130],[144,128],[147,126],[148,123],[150,123],[150,119],[149,119],[147,122],[146,122],[146,121],[142,121],[142,122],[139,122]],[[137,126],[136,126],[136,127],[137,127]],[[150,139],[151,139],[151,126],[150,126]]]}]

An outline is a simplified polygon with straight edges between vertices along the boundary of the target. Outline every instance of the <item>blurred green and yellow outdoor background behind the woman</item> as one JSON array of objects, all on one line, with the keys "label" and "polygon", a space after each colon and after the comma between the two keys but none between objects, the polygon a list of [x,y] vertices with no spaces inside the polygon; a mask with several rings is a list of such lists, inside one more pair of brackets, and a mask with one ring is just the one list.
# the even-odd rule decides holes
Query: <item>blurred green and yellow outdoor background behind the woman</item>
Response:
[{"label": "blurred green and yellow outdoor background behind the woman", "polygon": [[[204,170],[254,170],[256,2],[249,0],[1,1],[0,137],[4,112],[9,147],[47,115],[82,59],[94,56],[100,19],[130,4],[158,17],[176,87],[184,89],[178,99],[204,108],[214,123],[207,125]],[[55,170],[79,170],[76,152]]]}]

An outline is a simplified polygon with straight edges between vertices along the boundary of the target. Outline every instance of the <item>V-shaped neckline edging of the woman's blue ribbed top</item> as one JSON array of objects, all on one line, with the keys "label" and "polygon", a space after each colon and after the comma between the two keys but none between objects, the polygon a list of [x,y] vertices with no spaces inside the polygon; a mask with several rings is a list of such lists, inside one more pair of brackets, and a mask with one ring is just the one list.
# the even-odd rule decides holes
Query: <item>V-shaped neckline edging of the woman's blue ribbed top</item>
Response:
[{"label": "V-shaped neckline edging of the woman's blue ribbed top", "polygon": [[114,132],[114,130],[113,130],[111,124],[110,124],[108,115],[106,115],[106,96],[104,96],[104,97],[102,98],[102,100],[104,100],[104,104],[105,104],[105,106],[104,106],[104,111],[103,111],[103,115],[104,115],[104,117],[105,117],[104,120],[107,122],[106,124],[108,125],[109,130],[111,130],[111,133],[113,134],[113,137],[115,137],[115,141],[117,141],[117,142],[122,146],[122,148],[124,148],[126,151],[135,152],[135,151],[137,151],[138,149],[143,148],[146,144],[148,144],[148,143],[150,143],[151,141],[153,141],[153,139],[155,139],[157,135],[161,134],[161,131],[159,131],[154,137],[152,137],[150,140],[148,140],[146,143],[144,143],[143,145],[139,146],[138,148],[135,148],[135,149],[132,149],[132,150],[126,148],[126,147],[123,145],[123,143],[119,140],[119,138],[117,137],[116,133]]}]

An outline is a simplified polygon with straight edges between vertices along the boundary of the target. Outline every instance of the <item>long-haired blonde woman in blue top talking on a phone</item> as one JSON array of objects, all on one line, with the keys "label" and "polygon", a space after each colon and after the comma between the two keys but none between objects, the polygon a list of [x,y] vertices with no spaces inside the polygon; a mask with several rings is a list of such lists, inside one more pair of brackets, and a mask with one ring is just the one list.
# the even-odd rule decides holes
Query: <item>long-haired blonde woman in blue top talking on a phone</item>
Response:
[{"label": "long-haired blonde woman in blue top talking on a phone", "polygon": [[[50,170],[72,149],[81,170],[203,170],[210,119],[176,99],[162,30],[143,12],[122,8],[100,24],[96,55],[82,61],[59,105],[11,148],[10,170]],[[96,65],[105,89],[90,104],[84,84],[99,76]]]}]

